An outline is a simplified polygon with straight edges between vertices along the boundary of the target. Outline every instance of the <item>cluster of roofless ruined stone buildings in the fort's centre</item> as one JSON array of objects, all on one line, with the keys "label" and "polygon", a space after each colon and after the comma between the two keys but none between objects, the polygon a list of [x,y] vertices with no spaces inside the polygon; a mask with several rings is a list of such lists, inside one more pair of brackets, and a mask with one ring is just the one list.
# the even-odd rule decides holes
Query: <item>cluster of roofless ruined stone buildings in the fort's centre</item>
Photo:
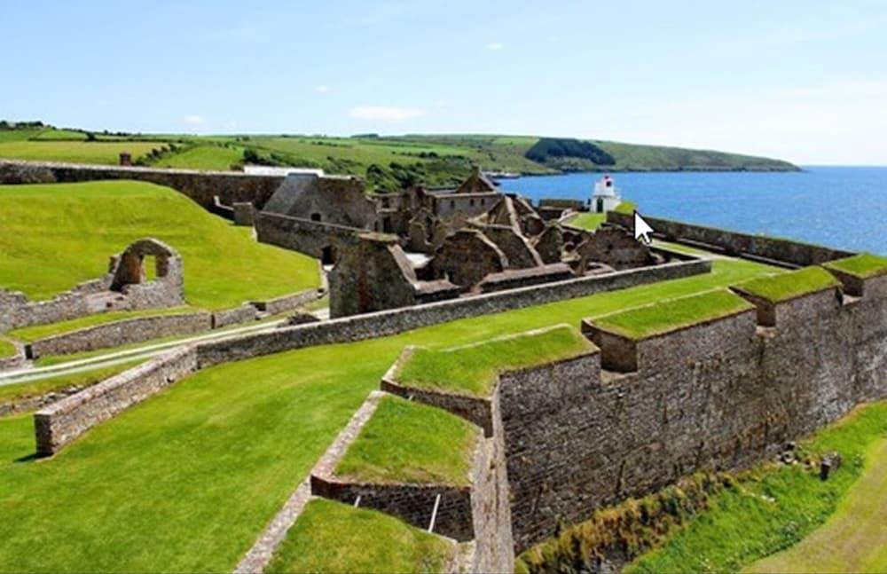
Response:
[{"label": "cluster of roofless ruined stone buildings in the fort's centre", "polygon": [[476,168],[457,189],[384,194],[357,177],[295,174],[255,226],[259,240],[322,260],[334,317],[661,262],[623,228],[546,221]]}]

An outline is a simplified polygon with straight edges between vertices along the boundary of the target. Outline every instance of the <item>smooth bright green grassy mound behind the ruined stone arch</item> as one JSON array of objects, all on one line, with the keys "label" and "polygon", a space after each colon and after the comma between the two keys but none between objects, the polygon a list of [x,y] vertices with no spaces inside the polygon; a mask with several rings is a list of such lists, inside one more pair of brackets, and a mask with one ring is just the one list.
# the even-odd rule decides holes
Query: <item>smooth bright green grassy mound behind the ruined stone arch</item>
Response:
[{"label": "smooth bright green grassy mound behind the ruined stone arch", "polygon": [[187,303],[235,307],[317,287],[315,260],[264,245],[167,187],[131,181],[0,186],[0,286],[47,299],[154,237],[184,258]]}]

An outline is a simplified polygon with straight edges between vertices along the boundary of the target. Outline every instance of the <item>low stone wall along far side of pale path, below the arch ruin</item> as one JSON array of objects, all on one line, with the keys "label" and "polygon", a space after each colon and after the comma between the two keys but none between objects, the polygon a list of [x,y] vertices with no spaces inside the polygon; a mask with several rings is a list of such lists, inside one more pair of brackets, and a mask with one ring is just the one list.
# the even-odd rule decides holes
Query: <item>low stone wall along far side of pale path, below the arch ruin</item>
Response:
[{"label": "low stone wall along far side of pale path, below the arch ruin", "polygon": [[207,311],[130,318],[88,326],[32,342],[27,345],[27,356],[39,358],[120,347],[172,335],[201,333],[210,330],[212,326],[212,315]]}]

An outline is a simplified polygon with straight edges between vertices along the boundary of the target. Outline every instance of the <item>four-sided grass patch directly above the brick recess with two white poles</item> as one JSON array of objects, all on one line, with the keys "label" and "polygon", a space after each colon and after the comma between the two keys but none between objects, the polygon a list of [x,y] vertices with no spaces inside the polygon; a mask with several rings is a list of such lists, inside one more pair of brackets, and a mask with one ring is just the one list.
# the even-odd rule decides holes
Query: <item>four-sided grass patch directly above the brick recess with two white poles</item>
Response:
[{"label": "four-sided grass patch directly above the brick recess with two white poles", "polygon": [[383,397],[334,473],[355,482],[468,486],[477,438],[455,414]]}]

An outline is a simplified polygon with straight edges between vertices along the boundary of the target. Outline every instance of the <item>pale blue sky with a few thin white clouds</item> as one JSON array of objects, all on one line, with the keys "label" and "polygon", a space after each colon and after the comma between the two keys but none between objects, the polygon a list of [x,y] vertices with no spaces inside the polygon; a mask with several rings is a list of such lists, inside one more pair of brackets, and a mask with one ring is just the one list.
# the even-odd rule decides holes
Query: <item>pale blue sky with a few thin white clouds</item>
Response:
[{"label": "pale blue sky with a few thin white clouds", "polygon": [[887,164],[887,2],[0,0],[0,117]]}]

